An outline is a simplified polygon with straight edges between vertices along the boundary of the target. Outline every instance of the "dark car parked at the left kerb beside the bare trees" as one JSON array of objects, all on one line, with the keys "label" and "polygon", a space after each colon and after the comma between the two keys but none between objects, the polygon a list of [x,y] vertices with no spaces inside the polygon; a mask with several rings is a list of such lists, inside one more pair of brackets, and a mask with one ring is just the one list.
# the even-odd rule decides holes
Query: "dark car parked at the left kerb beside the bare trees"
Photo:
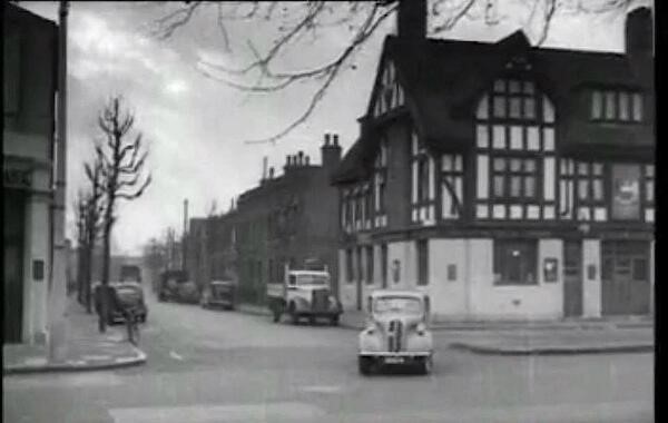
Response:
[{"label": "dark car parked at the left kerb beside the bare trees", "polygon": [[[109,295],[109,307],[107,309],[107,323],[125,322],[124,309],[134,307],[140,322],[146,322],[148,307],[144,301],[144,289],[136,283],[110,283],[107,286]],[[101,311],[102,285],[95,287],[95,306],[98,314]]]}]

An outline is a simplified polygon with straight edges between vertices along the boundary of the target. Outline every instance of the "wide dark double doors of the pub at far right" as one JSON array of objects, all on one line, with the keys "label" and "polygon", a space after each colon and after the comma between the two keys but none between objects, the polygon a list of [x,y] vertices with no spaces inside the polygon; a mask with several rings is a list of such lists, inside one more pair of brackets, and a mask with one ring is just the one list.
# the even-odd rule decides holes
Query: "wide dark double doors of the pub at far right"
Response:
[{"label": "wide dark double doors of the pub at far right", "polygon": [[649,314],[649,243],[602,243],[602,314]]}]

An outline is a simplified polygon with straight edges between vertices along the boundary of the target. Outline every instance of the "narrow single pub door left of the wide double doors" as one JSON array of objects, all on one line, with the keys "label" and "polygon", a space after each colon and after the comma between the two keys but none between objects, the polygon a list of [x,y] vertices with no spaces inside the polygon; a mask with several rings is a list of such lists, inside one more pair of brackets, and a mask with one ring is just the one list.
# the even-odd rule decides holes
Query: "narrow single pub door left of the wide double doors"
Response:
[{"label": "narrow single pub door left of the wide double doors", "polygon": [[582,315],[582,244],[563,243],[563,316]]}]

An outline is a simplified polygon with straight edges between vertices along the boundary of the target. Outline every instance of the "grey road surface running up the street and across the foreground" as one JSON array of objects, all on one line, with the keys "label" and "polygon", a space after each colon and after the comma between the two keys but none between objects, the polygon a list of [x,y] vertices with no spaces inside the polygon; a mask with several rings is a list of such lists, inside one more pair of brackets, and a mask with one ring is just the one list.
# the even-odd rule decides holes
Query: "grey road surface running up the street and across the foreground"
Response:
[{"label": "grey road surface running up the street and across the foreground", "polygon": [[[149,296],[150,297],[150,296]],[[654,355],[489,356],[357,374],[356,332],[155,303],[144,366],[3,377],[4,422],[652,422]]]}]

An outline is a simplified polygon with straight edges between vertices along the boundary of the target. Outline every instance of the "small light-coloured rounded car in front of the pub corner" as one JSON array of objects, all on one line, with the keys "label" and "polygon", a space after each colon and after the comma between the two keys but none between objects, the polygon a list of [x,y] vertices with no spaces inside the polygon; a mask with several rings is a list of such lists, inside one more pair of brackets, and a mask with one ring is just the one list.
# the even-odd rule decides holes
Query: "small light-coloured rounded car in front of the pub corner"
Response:
[{"label": "small light-coloured rounded car in front of the pub corner", "polygon": [[366,375],[384,364],[433,366],[429,329],[429,296],[419,291],[374,291],[367,301],[367,323],[358,335],[358,367]]}]

